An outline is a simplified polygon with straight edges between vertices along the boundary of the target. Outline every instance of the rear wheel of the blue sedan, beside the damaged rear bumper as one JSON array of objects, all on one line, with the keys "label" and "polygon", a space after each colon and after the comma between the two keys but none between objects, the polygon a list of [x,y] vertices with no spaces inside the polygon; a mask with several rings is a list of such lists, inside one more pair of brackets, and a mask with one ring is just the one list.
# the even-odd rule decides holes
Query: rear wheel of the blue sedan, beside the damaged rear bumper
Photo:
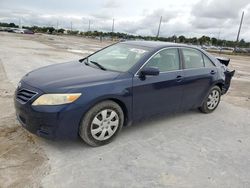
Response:
[{"label": "rear wheel of the blue sedan, beside the damaged rear bumper", "polygon": [[213,112],[219,105],[221,98],[221,89],[218,86],[213,86],[208,95],[205,97],[202,106],[199,110],[205,114]]}]

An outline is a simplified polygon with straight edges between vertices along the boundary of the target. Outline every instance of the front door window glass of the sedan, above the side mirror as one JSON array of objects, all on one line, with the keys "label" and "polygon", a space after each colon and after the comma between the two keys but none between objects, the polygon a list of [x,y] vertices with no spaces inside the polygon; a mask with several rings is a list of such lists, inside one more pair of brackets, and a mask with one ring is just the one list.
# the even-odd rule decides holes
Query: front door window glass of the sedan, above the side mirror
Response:
[{"label": "front door window glass of the sedan, above the side mirror", "polygon": [[152,57],[145,67],[156,67],[160,72],[180,69],[179,52],[176,48],[165,49]]}]

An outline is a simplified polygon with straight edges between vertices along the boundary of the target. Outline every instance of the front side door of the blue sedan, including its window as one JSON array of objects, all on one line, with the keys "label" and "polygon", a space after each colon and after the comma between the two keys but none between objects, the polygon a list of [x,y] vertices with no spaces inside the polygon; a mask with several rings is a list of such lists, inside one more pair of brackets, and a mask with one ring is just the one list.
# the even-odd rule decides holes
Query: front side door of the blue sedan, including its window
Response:
[{"label": "front side door of the blue sedan, including its window", "polygon": [[179,50],[164,49],[155,54],[144,67],[157,67],[160,74],[146,76],[145,79],[138,75],[133,78],[134,119],[177,111],[182,97]]}]

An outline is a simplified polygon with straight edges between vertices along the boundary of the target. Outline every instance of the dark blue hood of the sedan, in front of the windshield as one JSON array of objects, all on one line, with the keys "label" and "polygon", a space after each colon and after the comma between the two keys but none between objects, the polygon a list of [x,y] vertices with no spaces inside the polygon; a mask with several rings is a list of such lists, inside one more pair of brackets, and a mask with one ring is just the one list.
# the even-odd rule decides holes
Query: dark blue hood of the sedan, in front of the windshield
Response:
[{"label": "dark blue hood of the sedan, in front of the windshield", "polygon": [[60,92],[113,80],[119,74],[119,72],[104,71],[77,61],[36,69],[26,74],[22,81],[44,92]]}]

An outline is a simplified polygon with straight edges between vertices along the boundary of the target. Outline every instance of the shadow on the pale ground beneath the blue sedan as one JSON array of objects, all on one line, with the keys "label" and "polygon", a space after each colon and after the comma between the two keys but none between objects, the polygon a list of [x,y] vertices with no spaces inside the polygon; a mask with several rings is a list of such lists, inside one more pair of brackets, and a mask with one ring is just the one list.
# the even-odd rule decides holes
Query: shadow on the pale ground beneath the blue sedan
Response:
[{"label": "shadow on the pale ground beneath the blue sedan", "polygon": [[[197,114],[199,115],[201,113],[199,113],[198,110],[191,110],[175,114],[154,115],[152,117],[142,119],[140,121],[134,122],[130,126],[123,127],[122,131],[113,142],[99,148],[113,147],[117,144],[122,145],[123,143],[130,142],[131,140],[143,140],[145,137],[141,137],[140,135],[143,135],[145,132],[147,132],[148,137],[151,137],[154,135],[154,132],[161,132],[165,129],[171,128],[173,126],[171,125],[171,122],[178,121],[179,118],[185,119],[185,117],[189,118],[190,116]],[[178,125],[185,126],[185,123],[180,122]],[[47,140],[44,138],[37,138],[37,140],[45,147],[47,146],[50,149],[54,148],[60,151],[69,151],[74,149],[89,150],[95,148],[85,144],[85,142],[82,141],[80,137],[73,140]]]}]

